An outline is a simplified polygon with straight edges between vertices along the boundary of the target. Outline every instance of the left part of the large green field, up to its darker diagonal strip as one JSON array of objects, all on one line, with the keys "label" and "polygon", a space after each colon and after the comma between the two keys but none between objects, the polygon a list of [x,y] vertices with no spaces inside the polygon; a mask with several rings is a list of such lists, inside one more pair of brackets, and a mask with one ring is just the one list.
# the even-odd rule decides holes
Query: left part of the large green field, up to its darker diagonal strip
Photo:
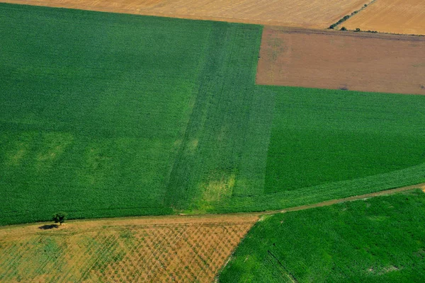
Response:
[{"label": "left part of the large green field, up to its darker diagonal strip", "polygon": [[173,213],[169,172],[210,34],[227,25],[6,4],[0,13],[0,223]]}]

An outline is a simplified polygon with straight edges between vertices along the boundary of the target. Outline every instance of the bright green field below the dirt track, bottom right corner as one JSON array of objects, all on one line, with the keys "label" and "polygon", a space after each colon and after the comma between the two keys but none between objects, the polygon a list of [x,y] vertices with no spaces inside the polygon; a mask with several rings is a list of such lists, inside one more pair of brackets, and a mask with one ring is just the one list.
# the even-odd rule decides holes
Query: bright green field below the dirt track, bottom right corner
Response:
[{"label": "bright green field below the dirt track, bottom right corner", "polygon": [[421,190],[268,216],[219,282],[424,282]]}]

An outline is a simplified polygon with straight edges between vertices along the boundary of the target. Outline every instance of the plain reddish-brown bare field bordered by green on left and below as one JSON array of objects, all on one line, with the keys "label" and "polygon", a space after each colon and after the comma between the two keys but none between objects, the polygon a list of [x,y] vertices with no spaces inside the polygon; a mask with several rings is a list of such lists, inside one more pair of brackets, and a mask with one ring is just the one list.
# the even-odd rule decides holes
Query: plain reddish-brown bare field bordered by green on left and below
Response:
[{"label": "plain reddish-brown bare field bordered by green on left and below", "polygon": [[256,83],[425,95],[425,37],[266,27]]}]

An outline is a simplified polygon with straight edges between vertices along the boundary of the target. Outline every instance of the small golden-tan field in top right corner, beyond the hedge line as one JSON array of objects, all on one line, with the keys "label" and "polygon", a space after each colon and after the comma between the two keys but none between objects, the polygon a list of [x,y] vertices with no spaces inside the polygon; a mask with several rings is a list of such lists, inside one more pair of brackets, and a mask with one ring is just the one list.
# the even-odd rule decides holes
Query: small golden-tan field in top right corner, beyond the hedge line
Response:
[{"label": "small golden-tan field in top right corner, beyond the hedge line", "polygon": [[425,35],[425,1],[377,0],[342,25],[350,30]]}]

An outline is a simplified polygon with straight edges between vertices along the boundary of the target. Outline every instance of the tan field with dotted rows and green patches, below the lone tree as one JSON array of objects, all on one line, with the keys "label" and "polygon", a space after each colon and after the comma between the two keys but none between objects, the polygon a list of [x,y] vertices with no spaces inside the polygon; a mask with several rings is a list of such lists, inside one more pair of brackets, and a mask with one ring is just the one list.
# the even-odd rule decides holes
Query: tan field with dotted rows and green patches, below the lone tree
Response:
[{"label": "tan field with dotted rows and green patches, below the lone tree", "polygon": [[212,282],[258,216],[0,229],[0,282]]}]

